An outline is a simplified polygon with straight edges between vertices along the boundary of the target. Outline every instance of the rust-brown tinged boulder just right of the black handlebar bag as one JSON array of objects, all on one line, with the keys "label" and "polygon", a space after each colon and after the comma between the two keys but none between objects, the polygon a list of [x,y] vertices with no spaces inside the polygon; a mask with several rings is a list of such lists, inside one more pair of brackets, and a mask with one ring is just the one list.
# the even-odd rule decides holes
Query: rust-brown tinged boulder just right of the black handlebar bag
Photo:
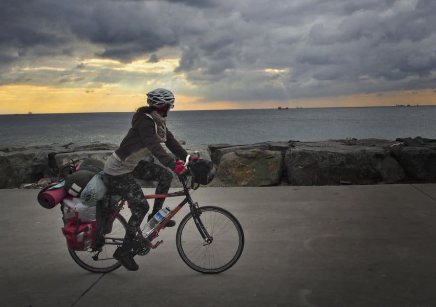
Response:
[{"label": "rust-brown tinged boulder just right of the black handlebar bag", "polygon": [[217,177],[230,186],[271,186],[280,183],[283,167],[279,151],[237,150],[221,158]]}]

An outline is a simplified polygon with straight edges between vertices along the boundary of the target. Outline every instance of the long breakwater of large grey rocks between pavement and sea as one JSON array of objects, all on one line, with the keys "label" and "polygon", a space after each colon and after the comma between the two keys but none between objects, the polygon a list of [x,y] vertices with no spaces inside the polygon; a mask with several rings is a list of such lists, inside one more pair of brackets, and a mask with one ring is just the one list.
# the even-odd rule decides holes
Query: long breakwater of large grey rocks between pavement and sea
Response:
[{"label": "long breakwater of large grey rocks between pavement and sea", "polygon": [[[210,186],[341,185],[436,182],[436,140],[426,138],[183,145],[217,168]],[[38,187],[59,179],[62,166],[105,161],[114,144],[0,147],[0,188]],[[152,160],[151,153],[144,159]],[[38,185],[39,183],[39,185]],[[143,187],[155,183],[141,182]],[[178,180],[172,186],[180,186]]]}]

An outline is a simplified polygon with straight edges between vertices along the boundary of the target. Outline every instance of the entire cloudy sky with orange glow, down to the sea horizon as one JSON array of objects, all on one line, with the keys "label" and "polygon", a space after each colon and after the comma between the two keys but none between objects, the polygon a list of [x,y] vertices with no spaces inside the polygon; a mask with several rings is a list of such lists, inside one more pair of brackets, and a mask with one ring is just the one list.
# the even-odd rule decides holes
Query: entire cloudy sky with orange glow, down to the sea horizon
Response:
[{"label": "entire cloudy sky with orange glow, down to the sea horizon", "polygon": [[155,87],[179,109],[436,104],[435,15],[431,0],[2,0],[0,113],[128,111]]}]

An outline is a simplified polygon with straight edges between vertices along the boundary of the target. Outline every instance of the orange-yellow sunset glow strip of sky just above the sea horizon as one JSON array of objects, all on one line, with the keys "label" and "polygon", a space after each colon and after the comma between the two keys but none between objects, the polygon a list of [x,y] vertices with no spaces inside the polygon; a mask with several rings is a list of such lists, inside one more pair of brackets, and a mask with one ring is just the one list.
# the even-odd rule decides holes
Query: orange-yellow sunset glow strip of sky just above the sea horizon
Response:
[{"label": "orange-yellow sunset glow strip of sky just above the sea horizon", "polygon": [[[204,102],[202,97],[176,95],[175,111],[198,109],[244,109],[247,104],[237,101]],[[89,113],[132,112],[145,104],[145,95],[126,89],[77,89],[50,86],[7,85],[0,87],[0,113]],[[361,94],[289,101],[251,101],[250,108],[282,107],[359,107],[434,105],[432,90],[387,92],[383,95]]]}]

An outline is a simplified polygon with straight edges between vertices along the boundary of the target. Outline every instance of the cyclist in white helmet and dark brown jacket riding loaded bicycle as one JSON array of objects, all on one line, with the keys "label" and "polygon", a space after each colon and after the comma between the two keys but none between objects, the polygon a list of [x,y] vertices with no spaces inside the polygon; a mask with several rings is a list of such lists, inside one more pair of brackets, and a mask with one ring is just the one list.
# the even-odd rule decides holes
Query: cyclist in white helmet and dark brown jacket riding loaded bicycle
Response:
[{"label": "cyclist in white helmet and dark brown jacket riding loaded bicycle", "polygon": [[[147,93],[148,106],[137,109],[132,119],[132,127],[128,130],[118,149],[104,165],[110,192],[125,198],[132,210],[124,242],[114,253],[114,258],[130,271],[136,271],[139,268],[133,258],[133,240],[149,209],[141,186],[135,179],[158,181],[156,194],[168,192],[172,181],[172,173],[168,169],[153,162],[142,160],[147,149],[164,166],[174,172],[181,174],[187,169],[186,166],[176,164],[161,145],[161,143],[165,143],[172,153],[183,160],[188,155],[166,127],[166,117],[170,109],[174,107],[174,101],[174,95],[166,89],[156,89]],[[162,208],[164,200],[164,198],[155,199],[148,220]],[[166,227],[175,225],[176,222],[171,220],[168,221]]]}]

